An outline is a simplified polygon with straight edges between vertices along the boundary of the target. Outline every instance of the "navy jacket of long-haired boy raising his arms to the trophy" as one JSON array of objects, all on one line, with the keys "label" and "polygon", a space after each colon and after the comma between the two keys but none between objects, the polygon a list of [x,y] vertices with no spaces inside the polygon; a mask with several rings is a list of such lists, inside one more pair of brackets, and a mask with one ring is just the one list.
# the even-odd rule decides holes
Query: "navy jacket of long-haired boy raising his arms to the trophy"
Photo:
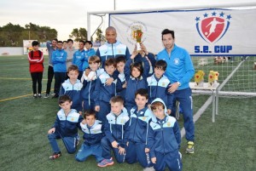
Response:
[{"label": "navy jacket of long-haired boy raising his arms to the trophy", "polygon": [[147,77],[149,71],[149,63],[146,58],[143,58],[144,68],[143,75],[139,78],[131,77],[130,75],[130,66],[131,59],[127,60],[125,63],[125,80],[127,82],[126,94],[125,94],[125,105],[136,105],[135,103],[135,93],[139,88],[148,88]]}]

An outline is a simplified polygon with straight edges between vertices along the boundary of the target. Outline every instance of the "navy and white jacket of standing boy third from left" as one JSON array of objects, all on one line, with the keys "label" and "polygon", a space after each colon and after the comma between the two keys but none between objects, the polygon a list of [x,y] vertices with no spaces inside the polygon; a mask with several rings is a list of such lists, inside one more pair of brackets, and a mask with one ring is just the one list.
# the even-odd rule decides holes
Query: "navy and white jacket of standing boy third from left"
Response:
[{"label": "navy and white jacket of standing boy third from left", "polygon": [[111,85],[105,85],[107,79],[110,76],[105,71],[103,72],[96,80],[96,87],[95,87],[95,93],[96,93],[96,105],[99,105],[99,101],[109,102],[109,100],[117,94],[122,89],[122,83],[117,78],[113,81]]}]

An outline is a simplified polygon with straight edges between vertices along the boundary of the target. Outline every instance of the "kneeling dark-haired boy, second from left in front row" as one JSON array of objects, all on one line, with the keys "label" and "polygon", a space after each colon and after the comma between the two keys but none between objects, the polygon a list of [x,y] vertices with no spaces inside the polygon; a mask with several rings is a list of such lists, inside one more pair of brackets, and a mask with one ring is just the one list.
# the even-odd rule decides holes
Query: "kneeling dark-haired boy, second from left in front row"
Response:
[{"label": "kneeling dark-haired boy, second from left in front row", "polygon": [[96,120],[96,111],[89,110],[84,112],[84,120],[80,123],[84,132],[84,143],[81,145],[76,155],[78,162],[84,162],[87,157],[96,157],[96,162],[102,162],[102,122]]}]

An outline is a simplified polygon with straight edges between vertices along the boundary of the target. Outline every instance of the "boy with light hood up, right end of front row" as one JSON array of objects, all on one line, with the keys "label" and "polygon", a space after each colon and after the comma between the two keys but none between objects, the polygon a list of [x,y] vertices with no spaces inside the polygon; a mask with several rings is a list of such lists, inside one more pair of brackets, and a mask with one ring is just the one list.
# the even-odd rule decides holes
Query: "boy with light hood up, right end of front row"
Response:
[{"label": "boy with light hood up, right end of front row", "polygon": [[166,105],[160,98],[151,104],[154,113],[148,129],[148,146],[151,162],[156,171],[180,171],[183,168],[181,154],[178,149],[181,134],[175,117],[168,116]]}]

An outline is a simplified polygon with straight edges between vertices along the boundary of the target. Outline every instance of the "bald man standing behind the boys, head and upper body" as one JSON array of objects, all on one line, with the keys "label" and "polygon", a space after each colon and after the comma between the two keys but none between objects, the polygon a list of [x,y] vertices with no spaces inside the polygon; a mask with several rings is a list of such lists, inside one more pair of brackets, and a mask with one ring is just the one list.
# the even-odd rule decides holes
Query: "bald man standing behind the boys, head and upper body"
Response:
[{"label": "bald man standing behind the boys, head and upper body", "polygon": [[102,68],[105,66],[105,61],[109,58],[116,58],[118,56],[125,56],[126,60],[130,59],[129,49],[125,44],[116,40],[117,33],[113,26],[109,26],[106,29],[107,43],[102,45],[96,51],[96,56],[99,56],[102,60]]}]

